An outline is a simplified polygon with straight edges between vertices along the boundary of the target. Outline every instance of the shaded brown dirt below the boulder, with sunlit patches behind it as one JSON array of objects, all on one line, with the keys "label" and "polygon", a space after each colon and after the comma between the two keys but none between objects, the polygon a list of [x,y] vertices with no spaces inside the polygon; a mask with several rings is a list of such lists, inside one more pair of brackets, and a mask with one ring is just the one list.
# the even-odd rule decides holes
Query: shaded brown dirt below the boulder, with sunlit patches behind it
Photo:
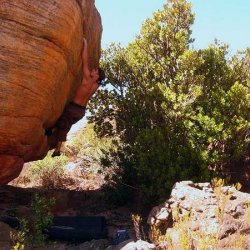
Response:
[{"label": "shaded brown dirt below the boulder, with sunlit patches behind it", "polygon": [[[39,183],[28,180],[29,164],[26,164],[19,178],[9,185],[0,187],[0,216],[12,210],[15,210],[15,215],[20,218],[29,216],[32,213],[30,208],[32,196],[34,193],[39,193],[55,199],[53,206],[55,216],[104,216],[107,221],[108,238],[106,240],[94,240],[89,244],[78,246],[58,243],[56,249],[104,249],[114,244],[116,232],[120,229],[125,229],[130,241],[133,242],[136,237],[131,215],[136,212],[135,208],[133,206],[114,207],[105,201],[102,190],[105,182],[104,174],[90,169],[90,162],[91,159],[72,158],[65,166],[64,185],[57,190],[44,189]],[[10,231],[6,225],[1,224],[1,227],[2,231],[5,231],[5,236],[0,237],[0,242],[6,238],[8,234],[6,231]],[[0,249],[2,250],[3,246]]]}]

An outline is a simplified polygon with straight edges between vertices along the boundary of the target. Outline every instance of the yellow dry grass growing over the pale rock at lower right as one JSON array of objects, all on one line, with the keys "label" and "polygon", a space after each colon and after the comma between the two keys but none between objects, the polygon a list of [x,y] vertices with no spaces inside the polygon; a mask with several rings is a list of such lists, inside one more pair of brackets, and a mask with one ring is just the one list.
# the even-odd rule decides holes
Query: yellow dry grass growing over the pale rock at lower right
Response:
[{"label": "yellow dry grass growing over the pale rock at lower right", "polygon": [[[221,225],[223,222],[225,207],[230,198],[230,194],[223,192],[223,186],[225,182],[222,179],[214,179],[212,186],[214,193],[218,200],[218,209],[216,219],[219,222],[219,226],[210,230],[210,234],[207,234],[206,230],[199,229],[197,231],[190,229],[190,222],[192,220],[192,214],[187,213],[181,215],[179,211],[172,211],[172,217],[174,220],[171,230],[167,230],[162,234],[161,230],[157,227],[152,227],[150,232],[150,239],[157,245],[158,250],[216,250],[219,249],[219,235]],[[238,183],[234,186],[237,190],[241,188]],[[250,203],[246,204],[245,223],[250,225]],[[211,226],[211,225],[208,225]],[[246,241],[246,235],[238,234],[228,237],[228,244],[234,246],[235,250],[243,250]]]}]

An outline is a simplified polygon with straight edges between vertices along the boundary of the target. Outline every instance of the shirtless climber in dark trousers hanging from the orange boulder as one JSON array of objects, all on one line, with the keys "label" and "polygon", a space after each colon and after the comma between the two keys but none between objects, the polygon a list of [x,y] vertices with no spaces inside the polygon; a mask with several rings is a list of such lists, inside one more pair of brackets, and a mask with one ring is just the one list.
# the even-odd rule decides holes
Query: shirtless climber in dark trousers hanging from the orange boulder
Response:
[{"label": "shirtless climber in dark trousers hanging from the orange boulder", "polygon": [[67,133],[71,126],[82,119],[85,115],[85,109],[89,99],[105,79],[105,73],[101,68],[89,70],[88,46],[86,39],[83,40],[82,61],[83,78],[81,85],[77,88],[72,102],[65,107],[61,117],[55,125],[55,128],[46,130],[46,135],[56,137],[56,145],[52,157],[61,155],[60,150],[62,143],[66,141]]}]

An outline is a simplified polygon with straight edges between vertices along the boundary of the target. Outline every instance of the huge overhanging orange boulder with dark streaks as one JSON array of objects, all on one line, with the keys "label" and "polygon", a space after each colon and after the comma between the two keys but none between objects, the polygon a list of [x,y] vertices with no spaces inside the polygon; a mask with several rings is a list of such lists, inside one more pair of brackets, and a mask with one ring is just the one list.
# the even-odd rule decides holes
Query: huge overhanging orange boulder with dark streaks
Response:
[{"label": "huge overhanging orange boulder with dark streaks", "polygon": [[101,18],[94,0],[0,0],[0,185],[48,151],[55,124],[81,79],[81,48],[98,66]]}]

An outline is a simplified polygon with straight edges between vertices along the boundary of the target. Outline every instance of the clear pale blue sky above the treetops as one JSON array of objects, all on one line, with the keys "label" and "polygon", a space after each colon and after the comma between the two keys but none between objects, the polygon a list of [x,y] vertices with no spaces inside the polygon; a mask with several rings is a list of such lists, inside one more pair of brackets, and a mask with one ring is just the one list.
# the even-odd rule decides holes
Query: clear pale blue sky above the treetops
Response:
[{"label": "clear pale blue sky above the treetops", "polygon": [[[139,33],[142,22],[161,9],[166,0],[95,0],[102,17],[102,47],[111,42],[126,45]],[[250,0],[191,0],[196,19],[195,48],[204,48],[215,38],[231,51],[250,46]]]}]

